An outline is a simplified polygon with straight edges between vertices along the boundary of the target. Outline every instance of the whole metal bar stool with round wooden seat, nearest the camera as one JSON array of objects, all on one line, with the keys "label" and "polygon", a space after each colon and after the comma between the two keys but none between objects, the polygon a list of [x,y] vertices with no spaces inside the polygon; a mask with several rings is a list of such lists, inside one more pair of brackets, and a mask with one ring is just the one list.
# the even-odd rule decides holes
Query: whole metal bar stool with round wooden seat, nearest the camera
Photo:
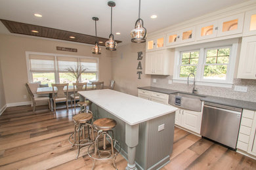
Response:
[{"label": "whole metal bar stool with round wooden seat, nearest the camera", "polygon": [[[98,136],[95,139],[94,143],[94,154],[90,153],[89,150],[93,144],[90,144],[88,148],[88,155],[93,158],[93,167],[95,168],[95,162],[96,160],[110,160],[112,159],[113,165],[116,168],[116,156],[119,154],[121,150],[120,143],[114,139],[114,133],[113,128],[116,126],[116,120],[113,120],[111,118],[100,118],[98,120],[95,120],[93,122],[93,126],[96,130],[98,130]],[[112,132],[112,136],[110,136],[109,131]],[[103,137],[103,138],[101,138]],[[99,141],[103,141],[103,147],[99,148]],[[110,149],[107,149],[107,143],[110,144]],[[115,148],[118,148],[118,150],[114,150]],[[116,168],[117,169],[117,168]]]}]

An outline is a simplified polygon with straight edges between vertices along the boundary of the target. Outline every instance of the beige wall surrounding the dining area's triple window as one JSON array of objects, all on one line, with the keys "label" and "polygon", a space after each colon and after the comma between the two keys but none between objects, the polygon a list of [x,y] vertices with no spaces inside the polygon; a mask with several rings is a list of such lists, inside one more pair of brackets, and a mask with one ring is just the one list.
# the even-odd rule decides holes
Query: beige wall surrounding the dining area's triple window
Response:
[{"label": "beige wall surrounding the dining area's triple window", "polygon": [[[100,80],[109,84],[112,78],[111,52],[104,50],[104,48],[102,48],[102,54],[93,55],[91,54],[92,46],[85,44],[3,34],[0,34],[0,40],[1,69],[3,71],[3,85],[5,86],[7,104],[30,101],[29,96],[24,99],[24,95],[28,95],[25,87],[26,82],[28,82],[26,51],[96,56],[99,58]],[[57,51],[56,46],[77,48],[78,52]]]}]

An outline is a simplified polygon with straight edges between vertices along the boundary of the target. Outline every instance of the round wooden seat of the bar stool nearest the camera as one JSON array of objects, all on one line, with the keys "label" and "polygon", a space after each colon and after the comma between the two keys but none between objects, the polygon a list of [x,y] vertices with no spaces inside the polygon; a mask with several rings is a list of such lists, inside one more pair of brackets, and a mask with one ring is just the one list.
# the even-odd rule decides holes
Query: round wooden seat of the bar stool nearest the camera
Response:
[{"label": "round wooden seat of the bar stool nearest the camera", "polygon": [[93,122],[93,125],[102,131],[108,131],[116,126],[116,120],[112,118],[100,118]]}]

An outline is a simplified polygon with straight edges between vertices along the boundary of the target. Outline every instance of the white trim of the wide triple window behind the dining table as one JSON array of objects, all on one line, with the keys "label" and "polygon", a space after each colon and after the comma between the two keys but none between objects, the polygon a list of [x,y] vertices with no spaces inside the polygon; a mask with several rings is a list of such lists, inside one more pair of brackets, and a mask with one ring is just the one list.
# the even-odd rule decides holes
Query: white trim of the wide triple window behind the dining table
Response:
[{"label": "white trim of the wide triple window behind the dining table", "polygon": [[[36,72],[31,72],[30,71],[30,59],[29,56],[30,54],[34,55],[44,55],[44,56],[54,56],[54,63],[55,63],[55,71],[51,72],[54,73],[54,79],[55,83],[60,83],[60,77],[58,73],[65,73],[65,72],[58,72],[58,61],[57,57],[69,57],[69,58],[91,58],[91,59],[96,59],[97,60],[97,71],[85,71],[85,73],[96,73],[96,80],[100,80],[100,68],[99,68],[99,59],[96,57],[88,57],[88,56],[74,56],[74,55],[66,55],[66,54],[53,54],[53,53],[43,53],[43,52],[26,52],[26,64],[27,64],[27,74],[28,74],[28,82],[33,82],[33,75],[32,73]],[[79,61],[80,63],[80,61]],[[39,72],[38,72],[39,73]],[[81,82],[81,76],[79,77],[79,81]]]}]

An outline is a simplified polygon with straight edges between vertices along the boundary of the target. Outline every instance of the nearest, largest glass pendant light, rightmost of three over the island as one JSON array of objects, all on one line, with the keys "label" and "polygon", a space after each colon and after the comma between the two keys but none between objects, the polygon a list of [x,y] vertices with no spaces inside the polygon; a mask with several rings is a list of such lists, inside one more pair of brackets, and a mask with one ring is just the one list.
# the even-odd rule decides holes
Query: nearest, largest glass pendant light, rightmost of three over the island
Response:
[{"label": "nearest, largest glass pendant light, rightmost of three over the island", "polygon": [[143,27],[143,20],[140,18],[139,0],[139,19],[135,22],[135,29],[131,30],[131,42],[141,43],[146,41],[146,28]]}]

